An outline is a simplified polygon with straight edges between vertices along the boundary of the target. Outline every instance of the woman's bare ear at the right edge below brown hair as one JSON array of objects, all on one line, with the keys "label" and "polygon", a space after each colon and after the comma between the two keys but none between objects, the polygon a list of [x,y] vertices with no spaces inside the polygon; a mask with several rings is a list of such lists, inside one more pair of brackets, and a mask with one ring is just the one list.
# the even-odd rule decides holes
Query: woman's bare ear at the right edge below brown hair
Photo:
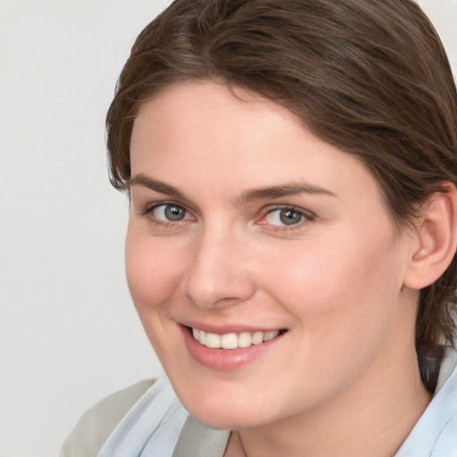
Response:
[{"label": "woman's bare ear at the right edge below brown hair", "polygon": [[453,260],[457,247],[457,190],[445,183],[447,192],[436,192],[420,207],[416,243],[404,277],[404,286],[428,287]]}]

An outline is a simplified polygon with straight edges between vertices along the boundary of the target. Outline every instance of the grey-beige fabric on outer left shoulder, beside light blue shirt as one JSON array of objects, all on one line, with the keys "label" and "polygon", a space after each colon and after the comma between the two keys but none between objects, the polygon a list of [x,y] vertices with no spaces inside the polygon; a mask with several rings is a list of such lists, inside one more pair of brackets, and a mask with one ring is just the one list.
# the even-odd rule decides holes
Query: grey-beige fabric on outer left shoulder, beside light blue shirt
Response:
[{"label": "grey-beige fabric on outer left shoulder, beside light blue shirt", "polygon": [[95,457],[112,430],[153,384],[154,379],[145,379],[96,403],[71,431],[60,457]]}]

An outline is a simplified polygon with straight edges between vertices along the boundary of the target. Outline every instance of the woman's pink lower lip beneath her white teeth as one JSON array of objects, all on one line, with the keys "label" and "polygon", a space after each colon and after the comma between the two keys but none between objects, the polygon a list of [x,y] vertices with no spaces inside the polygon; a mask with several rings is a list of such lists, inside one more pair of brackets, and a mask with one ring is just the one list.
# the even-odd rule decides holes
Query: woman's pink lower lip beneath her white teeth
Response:
[{"label": "woman's pink lower lip beneath her white teeth", "polygon": [[187,351],[195,361],[198,361],[204,367],[220,371],[237,370],[245,367],[245,365],[259,359],[264,353],[270,351],[283,337],[283,335],[279,335],[260,345],[238,347],[237,349],[212,349],[198,343],[187,327],[180,326],[180,328]]}]

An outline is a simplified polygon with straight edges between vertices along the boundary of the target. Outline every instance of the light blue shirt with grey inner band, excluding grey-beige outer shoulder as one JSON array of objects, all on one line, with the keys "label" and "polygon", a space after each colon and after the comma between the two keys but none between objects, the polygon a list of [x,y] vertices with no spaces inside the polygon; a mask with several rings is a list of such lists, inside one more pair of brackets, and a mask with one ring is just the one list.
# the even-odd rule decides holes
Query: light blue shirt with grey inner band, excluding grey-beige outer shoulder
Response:
[{"label": "light blue shirt with grey inner band, excluding grey-beige outer shoulder", "polygon": [[[457,457],[456,365],[457,353],[448,349],[432,401],[395,457]],[[98,457],[222,457],[229,435],[193,419],[162,378],[120,421]]]}]

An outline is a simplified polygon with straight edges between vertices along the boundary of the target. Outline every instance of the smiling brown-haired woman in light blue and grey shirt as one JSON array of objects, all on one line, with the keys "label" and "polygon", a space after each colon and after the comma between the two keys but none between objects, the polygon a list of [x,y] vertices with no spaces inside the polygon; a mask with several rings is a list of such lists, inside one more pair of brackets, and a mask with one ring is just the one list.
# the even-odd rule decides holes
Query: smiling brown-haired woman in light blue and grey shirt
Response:
[{"label": "smiling brown-haired woman in light blue and grey shirt", "polygon": [[457,455],[457,92],[417,4],[177,0],[107,129],[172,388],[63,455]]}]

